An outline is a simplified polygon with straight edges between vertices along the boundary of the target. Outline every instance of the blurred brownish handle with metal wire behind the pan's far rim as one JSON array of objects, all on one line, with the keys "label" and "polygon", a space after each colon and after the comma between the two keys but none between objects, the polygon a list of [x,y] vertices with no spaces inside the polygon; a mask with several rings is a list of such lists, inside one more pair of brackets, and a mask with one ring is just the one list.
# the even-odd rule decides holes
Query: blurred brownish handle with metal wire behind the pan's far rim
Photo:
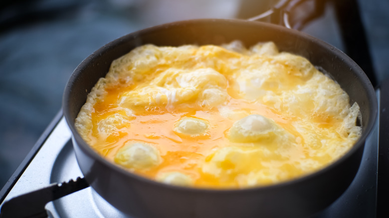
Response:
[{"label": "blurred brownish handle with metal wire behind the pan's far rim", "polygon": [[264,20],[301,30],[307,23],[324,13],[326,0],[280,0],[269,10],[248,18],[249,21]]}]

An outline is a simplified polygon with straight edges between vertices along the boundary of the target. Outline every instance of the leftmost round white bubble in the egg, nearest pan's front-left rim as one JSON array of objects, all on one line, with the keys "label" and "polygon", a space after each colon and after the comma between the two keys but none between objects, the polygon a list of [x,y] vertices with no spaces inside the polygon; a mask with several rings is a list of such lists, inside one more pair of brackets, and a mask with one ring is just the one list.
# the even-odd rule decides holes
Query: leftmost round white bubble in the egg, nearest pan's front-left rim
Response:
[{"label": "leftmost round white bubble in the egg, nearest pan's front-left rim", "polygon": [[159,151],[146,143],[126,143],[115,155],[114,161],[127,168],[145,169],[160,163]]}]

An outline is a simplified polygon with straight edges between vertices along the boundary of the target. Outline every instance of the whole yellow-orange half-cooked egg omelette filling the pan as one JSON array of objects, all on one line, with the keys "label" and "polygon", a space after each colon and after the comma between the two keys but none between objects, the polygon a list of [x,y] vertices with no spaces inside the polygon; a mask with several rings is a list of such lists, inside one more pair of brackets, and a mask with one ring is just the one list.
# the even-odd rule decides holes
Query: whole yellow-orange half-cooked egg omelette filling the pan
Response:
[{"label": "whole yellow-orange half-cooked egg omelette filling the pan", "polygon": [[112,62],[76,118],[100,155],[177,186],[244,188],[317,171],[358,140],[357,103],[307,59],[246,49],[143,45]]}]

